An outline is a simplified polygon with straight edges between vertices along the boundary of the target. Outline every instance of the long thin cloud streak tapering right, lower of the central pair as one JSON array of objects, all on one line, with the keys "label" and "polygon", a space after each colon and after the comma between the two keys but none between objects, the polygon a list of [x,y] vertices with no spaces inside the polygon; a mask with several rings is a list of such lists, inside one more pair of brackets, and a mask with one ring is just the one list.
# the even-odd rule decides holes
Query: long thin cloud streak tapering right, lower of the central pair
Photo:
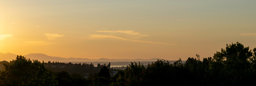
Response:
[{"label": "long thin cloud streak tapering right, lower of the central pair", "polygon": [[166,45],[172,45],[172,46],[177,45],[177,44],[169,44],[169,43],[162,43],[162,42],[127,39],[127,38],[122,38],[122,37],[117,37],[117,36],[112,36],[112,35],[89,35],[88,37],[89,37],[89,39],[114,38],[114,39],[130,41],[130,42],[166,44]]}]

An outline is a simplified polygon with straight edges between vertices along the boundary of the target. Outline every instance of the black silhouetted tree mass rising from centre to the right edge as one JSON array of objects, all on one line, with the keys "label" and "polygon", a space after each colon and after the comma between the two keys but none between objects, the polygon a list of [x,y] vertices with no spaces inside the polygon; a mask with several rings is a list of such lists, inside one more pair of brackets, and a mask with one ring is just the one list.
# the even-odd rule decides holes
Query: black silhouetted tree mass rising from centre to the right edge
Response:
[{"label": "black silhouetted tree mass rising from centre to the right edge", "polygon": [[144,67],[131,63],[124,73],[117,74],[113,86],[169,86],[200,85],[229,86],[250,85],[256,80],[256,48],[252,50],[241,43],[227,44],[212,57],[181,59],[170,64],[158,60]]}]

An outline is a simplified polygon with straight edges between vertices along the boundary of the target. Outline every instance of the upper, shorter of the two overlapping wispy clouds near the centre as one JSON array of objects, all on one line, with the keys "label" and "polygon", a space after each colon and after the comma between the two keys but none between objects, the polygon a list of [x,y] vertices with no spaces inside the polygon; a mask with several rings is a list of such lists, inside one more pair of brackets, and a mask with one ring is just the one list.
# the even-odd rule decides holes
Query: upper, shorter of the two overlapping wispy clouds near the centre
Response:
[{"label": "upper, shorter of the two overlapping wispy clouds near the centre", "polygon": [[127,34],[127,35],[136,36],[136,37],[131,37],[131,38],[142,38],[142,37],[148,37],[149,36],[149,35],[145,35],[145,34],[140,34],[139,32],[134,32],[134,30],[117,30],[117,31],[101,31],[101,30],[98,30],[96,32],[123,33],[123,34]]}]

